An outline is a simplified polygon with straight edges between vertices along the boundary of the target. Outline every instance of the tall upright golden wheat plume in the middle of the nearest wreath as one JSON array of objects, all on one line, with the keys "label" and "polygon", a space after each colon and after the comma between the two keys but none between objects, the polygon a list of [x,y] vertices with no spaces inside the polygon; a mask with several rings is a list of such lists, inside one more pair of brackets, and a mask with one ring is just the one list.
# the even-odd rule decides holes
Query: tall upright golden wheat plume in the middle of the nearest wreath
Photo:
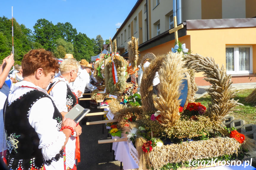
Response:
[{"label": "tall upright golden wheat plume in the middle of the nearest wreath", "polygon": [[[157,108],[160,111],[160,124],[164,127],[171,127],[179,120],[179,105],[181,99],[180,85],[185,79],[185,72],[182,61],[182,53],[169,52],[164,55],[162,67],[158,70],[160,83],[158,84],[158,98],[155,98]],[[188,80],[189,81],[189,80]]]}]

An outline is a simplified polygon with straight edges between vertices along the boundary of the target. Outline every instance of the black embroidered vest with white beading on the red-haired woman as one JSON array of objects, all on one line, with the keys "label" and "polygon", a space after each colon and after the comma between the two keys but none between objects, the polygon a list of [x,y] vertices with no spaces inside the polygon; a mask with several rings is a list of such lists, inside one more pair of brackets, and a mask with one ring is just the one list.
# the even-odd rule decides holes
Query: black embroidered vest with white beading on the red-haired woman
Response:
[{"label": "black embroidered vest with white beading on the red-haired woman", "polygon": [[[31,90],[21,95],[10,105],[8,97],[4,108],[4,126],[7,140],[7,163],[9,168],[31,169],[32,167],[42,168],[44,163],[50,165],[52,161],[58,161],[63,157],[63,150],[51,160],[44,160],[42,149],[39,149],[39,137],[35,129],[28,122],[28,113],[31,106],[40,98],[50,98],[38,90]],[[52,101],[53,102],[53,101]],[[61,128],[62,116],[54,105],[53,119],[57,120],[56,128]],[[45,106],[47,107],[47,106]],[[45,124],[47,126],[47,124]],[[49,132],[50,133],[50,132]]]}]

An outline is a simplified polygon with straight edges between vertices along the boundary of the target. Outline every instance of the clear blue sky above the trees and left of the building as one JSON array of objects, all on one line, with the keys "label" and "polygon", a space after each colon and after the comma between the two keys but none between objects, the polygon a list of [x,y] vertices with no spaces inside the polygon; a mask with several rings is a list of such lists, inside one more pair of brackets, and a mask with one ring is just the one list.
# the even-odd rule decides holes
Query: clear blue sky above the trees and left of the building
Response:
[{"label": "clear blue sky above the trees and left of the building", "polygon": [[45,18],[57,22],[70,22],[77,33],[89,38],[101,35],[104,40],[113,37],[131,12],[137,0],[4,0],[0,16],[12,18],[34,31],[36,21]]}]

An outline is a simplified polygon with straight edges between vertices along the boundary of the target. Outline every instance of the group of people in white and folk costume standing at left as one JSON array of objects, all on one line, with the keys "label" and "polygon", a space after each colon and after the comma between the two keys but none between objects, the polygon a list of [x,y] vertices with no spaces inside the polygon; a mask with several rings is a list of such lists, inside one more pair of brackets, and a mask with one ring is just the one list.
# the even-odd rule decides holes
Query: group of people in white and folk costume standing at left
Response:
[{"label": "group of people in white and folk costume standing at left", "polygon": [[[13,54],[0,66],[0,146],[10,169],[75,170],[82,128],[65,115],[91,84],[93,63],[66,54],[60,64],[52,52],[31,50],[21,65]],[[93,80],[96,81],[96,80]]]}]

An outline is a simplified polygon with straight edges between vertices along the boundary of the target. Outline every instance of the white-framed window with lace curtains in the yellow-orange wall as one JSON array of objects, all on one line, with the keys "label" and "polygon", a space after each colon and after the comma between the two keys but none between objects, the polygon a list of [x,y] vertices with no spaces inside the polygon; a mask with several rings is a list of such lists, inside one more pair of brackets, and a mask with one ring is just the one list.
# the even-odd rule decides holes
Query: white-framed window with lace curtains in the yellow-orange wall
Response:
[{"label": "white-framed window with lace curtains in the yellow-orange wall", "polygon": [[226,46],[227,74],[252,74],[252,46]]}]

